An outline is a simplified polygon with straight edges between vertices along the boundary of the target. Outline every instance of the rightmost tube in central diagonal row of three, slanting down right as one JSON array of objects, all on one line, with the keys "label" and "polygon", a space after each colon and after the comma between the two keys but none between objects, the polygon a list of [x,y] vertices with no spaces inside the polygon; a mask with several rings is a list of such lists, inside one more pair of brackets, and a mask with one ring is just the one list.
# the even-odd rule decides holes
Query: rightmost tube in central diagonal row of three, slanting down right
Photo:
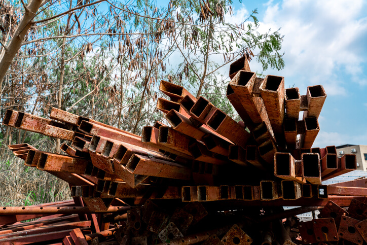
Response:
[{"label": "rightmost tube in central diagonal row of three, slanting down right", "polygon": [[245,148],[251,134],[241,127],[235,120],[216,109],[209,118],[207,125],[215,132],[228,138],[231,142]]}]

